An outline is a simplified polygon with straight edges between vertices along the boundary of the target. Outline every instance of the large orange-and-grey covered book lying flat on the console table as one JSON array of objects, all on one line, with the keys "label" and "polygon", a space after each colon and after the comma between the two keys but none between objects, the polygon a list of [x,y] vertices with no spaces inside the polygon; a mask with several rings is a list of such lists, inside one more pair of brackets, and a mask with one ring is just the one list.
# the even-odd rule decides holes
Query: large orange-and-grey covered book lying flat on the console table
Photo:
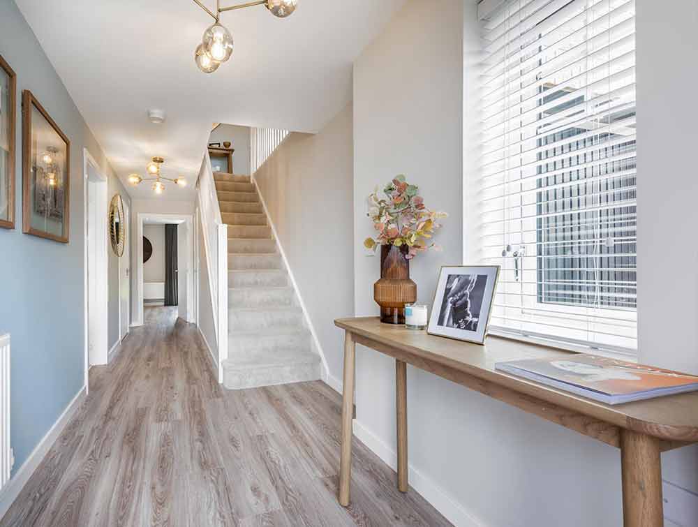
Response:
[{"label": "large orange-and-grey covered book lying flat on the console table", "polygon": [[698,376],[594,355],[514,360],[494,367],[607,404],[698,390]]}]

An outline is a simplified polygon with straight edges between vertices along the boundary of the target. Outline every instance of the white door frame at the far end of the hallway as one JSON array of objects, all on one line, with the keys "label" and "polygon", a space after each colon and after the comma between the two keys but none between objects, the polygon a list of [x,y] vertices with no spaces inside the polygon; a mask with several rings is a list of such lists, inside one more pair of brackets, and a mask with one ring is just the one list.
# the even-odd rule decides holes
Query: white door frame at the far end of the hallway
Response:
[{"label": "white door frame at the far end of the hallway", "polygon": [[[179,313],[179,318],[187,322],[195,323],[192,310],[193,299],[193,219],[191,214],[153,214],[151,212],[139,212],[136,218],[136,237],[135,237],[135,264],[136,271],[136,293],[135,293],[135,310],[133,312],[133,326],[142,326],[144,324],[143,313],[143,223],[154,219],[158,221],[171,221],[172,223],[179,222],[186,224],[186,313],[182,316]],[[133,246],[131,246],[133,248]],[[133,267],[131,268],[133,271]]]}]

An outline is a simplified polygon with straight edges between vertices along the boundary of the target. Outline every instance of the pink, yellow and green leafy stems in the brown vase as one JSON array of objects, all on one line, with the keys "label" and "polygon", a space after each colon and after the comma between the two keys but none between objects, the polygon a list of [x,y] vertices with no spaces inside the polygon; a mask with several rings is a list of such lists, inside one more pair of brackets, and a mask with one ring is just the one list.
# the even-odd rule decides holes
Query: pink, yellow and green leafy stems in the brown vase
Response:
[{"label": "pink, yellow and green leafy stems in the brown vase", "polygon": [[390,181],[383,188],[383,195],[378,193],[376,187],[368,198],[368,216],[378,236],[376,239],[366,238],[366,248],[375,250],[379,245],[406,246],[405,258],[408,260],[430,248],[440,251],[440,247],[429,242],[429,239],[441,227],[438,220],[447,214],[427,209],[418,191],[419,187],[408,184],[403,175]]}]

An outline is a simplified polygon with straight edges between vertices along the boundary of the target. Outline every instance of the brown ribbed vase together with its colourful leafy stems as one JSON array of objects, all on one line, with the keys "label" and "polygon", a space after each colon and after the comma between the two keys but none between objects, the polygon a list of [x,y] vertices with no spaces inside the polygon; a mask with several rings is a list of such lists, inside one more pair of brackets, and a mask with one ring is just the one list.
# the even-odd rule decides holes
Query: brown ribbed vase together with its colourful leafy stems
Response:
[{"label": "brown ribbed vase together with its colourful leafy stems", "polygon": [[433,232],[440,228],[443,212],[426,208],[419,188],[397,176],[368,198],[368,216],[378,231],[376,239],[366,238],[364,246],[375,250],[380,245],[380,280],[373,285],[373,299],[380,306],[380,320],[387,324],[405,323],[405,304],[417,300],[417,284],[410,280],[410,260],[429,248]]}]

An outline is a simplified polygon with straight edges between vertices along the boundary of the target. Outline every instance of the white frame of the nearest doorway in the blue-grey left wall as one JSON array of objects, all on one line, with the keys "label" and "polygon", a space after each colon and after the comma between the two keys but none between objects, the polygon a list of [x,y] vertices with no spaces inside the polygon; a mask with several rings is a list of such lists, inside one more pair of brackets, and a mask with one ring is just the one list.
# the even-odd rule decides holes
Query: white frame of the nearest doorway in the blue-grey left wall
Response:
[{"label": "white frame of the nearest doorway in the blue-grey left wall", "polygon": [[[97,181],[91,181],[89,171],[90,168],[94,171],[94,175],[97,177]],[[94,352],[94,356],[101,357],[94,364],[107,364],[107,355],[109,350],[108,340],[109,340],[109,260],[107,256],[107,199],[108,199],[108,188],[107,188],[107,177],[102,172],[99,164],[95,161],[95,158],[91,156],[87,148],[82,149],[82,216],[83,216],[83,253],[84,253],[84,383],[86,389],[89,389],[88,383],[88,371],[90,364],[90,353],[89,353],[89,329],[90,329],[90,307],[93,309],[96,320],[96,333],[98,338],[95,339],[94,343],[98,348]],[[89,186],[99,185],[97,187],[97,199],[96,199],[96,210],[94,218],[103,218],[103,222],[97,223],[95,225],[96,232],[98,233],[98,239],[100,242],[96,246],[96,276],[89,276],[89,244],[88,244],[88,234],[89,234]],[[101,276],[101,280],[95,281],[97,276]],[[90,281],[94,282],[92,287],[95,288],[96,292],[96,302],[94,306],[89,305],[89,291],[90,291]]]}]

